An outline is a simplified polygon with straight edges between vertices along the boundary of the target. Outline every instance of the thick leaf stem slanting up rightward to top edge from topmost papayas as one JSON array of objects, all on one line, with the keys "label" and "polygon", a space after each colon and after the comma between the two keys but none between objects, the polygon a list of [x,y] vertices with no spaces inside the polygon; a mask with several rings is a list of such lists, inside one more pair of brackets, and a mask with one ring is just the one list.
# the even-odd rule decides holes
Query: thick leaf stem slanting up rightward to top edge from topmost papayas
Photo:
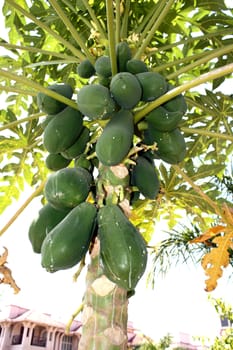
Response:
[{"label": "thick leaf stem slanting up rightward to top edge from topmost papayas", "polygon": [[[163,1],[165,3],[164,9],[160,12],[158,12],[157,19],[155,20],[154,24],[152,25],[151,29],[148,31],[147,36],[143,40],[141,46],[137,50],[134,58],[139,59],[142,54],[145,52],[147,46],[149,45],[151,39],[153,38],[156,30],[159,28],[160,24],[164,21],[164,18],[166,17],[167,13],[169,12],[171,6],[174,4],[174,0],[169,1]],[[156,11],[157,13],[157,11]]]}]

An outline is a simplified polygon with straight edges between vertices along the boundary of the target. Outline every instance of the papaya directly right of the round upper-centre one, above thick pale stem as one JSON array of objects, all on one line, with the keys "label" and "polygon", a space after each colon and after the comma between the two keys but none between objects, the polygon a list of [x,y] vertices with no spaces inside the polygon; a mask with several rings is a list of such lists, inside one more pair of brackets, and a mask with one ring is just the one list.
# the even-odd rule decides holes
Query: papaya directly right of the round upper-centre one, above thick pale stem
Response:
[{"label": "papaya directly right of the round upper-centre one, above thick pale stem", "polygon": [[150,102],[167,92],[167,82],[156,72],[143,72],[135,75],[141,84],[141,100]]}]

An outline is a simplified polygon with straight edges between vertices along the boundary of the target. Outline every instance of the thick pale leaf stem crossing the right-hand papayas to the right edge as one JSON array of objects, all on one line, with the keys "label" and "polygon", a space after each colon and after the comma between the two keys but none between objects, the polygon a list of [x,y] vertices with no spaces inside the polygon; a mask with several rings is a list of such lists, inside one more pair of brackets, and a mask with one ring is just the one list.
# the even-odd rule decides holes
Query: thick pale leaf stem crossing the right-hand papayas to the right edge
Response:
[{"label": "thick pale leaf stem crossing the right-hand papayas to the right edge", "polygon": [[233,63],[229,63],[223,67],[216,68],[208,73],[202,74],[199,77],[193,79],[192,81],[188,81],[187,83],[184,83],[183,85],[178,86],[178,87],[168,91],[166,94],[160,96],[155,101],[148,103],[143,109],[136,112],[134,115],[135,124],[138,123],[143,117],[145,117],[153,109],[155,109],[156,107],[160,106],[161,104],[169,101],[170,99],[178,96],[182,92],[187,91],[189,89],[192,89],[195,86],[199,86],[201,84],[204,84],[207,81],[220,78],[220,77],[227,75],[229,73],[232,73],[232,72],[233,72]]}]

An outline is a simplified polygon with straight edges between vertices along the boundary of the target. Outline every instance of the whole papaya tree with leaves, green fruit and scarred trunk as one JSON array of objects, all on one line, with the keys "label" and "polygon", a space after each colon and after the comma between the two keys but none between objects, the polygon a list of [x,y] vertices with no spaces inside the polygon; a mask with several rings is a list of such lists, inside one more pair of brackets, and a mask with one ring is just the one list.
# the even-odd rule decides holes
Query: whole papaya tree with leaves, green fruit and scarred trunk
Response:
[{"label": "whole papaya tree with leaves, green fruit and scarred trunk", "polygon": [[[186,242],[205,248],[207,291],[231,262],[232,201],[216,179],[232,166],[232,9],[5,0],[2,11],[1,213],[26,183],[32,194],[1,234],[40,196],[28,235],[42,267],[78,276],[90,258],[79,350],[126,349],[156,222],[174,233],[182,213],[198,228]],[[2,282],[16,288],[7,254]]]}]

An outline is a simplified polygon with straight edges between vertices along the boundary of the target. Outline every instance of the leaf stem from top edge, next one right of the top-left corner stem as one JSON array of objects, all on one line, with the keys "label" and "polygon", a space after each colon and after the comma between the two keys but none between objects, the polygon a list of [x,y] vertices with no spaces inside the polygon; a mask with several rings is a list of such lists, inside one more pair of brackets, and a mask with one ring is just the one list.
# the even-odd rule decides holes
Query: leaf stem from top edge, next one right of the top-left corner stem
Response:
[{"label": "leaf stem from top edge, next one right of the top-left corner stem", "polygon": [[80,35],[77,32],[77,29],[70,22],[69,18],[66,16],[64,10],[59,6],[56,0],[49,0],[50,4],[53,6],[54,10],[57,12],[58,16],[61,18],[62,22],[69,29],[72,34],[73,39],[77,42],[80,48],[85,53],[86,57],[90,60],[90,62],[94,63],[94,58],[90,54],[88,48],[86,47],[84,41],[81,39]]}]

